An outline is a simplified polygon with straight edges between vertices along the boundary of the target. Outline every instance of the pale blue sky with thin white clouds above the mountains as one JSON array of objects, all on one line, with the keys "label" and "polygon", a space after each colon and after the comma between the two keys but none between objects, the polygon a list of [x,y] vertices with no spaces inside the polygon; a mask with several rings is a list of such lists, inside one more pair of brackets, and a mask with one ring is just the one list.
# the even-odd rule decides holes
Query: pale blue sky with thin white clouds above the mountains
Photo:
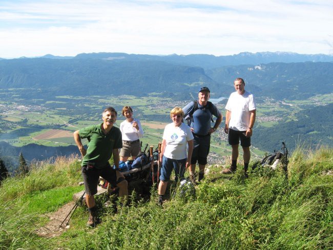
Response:
[{"label": "pale blue sky with thin white clouds above the mountains", "polygon": [[0,57],[333,54],[332,27],[331,0],[1,0]]}]

